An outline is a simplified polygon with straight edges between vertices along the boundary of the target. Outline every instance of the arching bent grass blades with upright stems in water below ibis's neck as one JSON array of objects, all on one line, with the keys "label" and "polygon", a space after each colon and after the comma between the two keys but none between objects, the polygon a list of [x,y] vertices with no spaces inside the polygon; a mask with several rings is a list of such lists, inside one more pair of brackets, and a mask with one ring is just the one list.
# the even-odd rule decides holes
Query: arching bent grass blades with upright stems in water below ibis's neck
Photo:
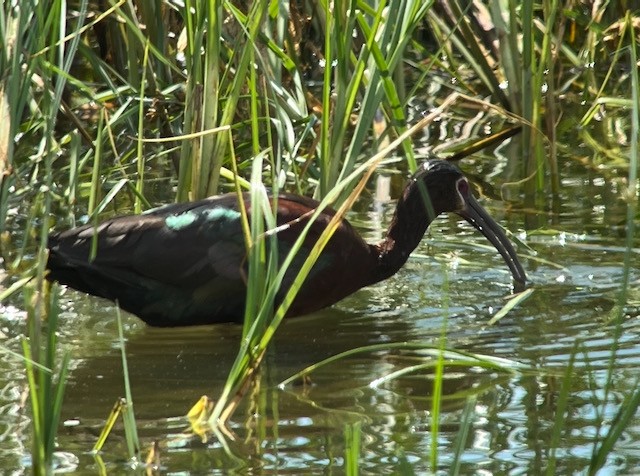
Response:
[{"label": "arching bent grass blades with upright stems in water below ibis's neck", "polygon": [[[360,360],[368,355],[380,359],[381,355],[384,355],[384,359],[392,360],[398,368],[397,370],[389,371],[387,374],[380,375],[374,380],[371,380],[366,385],[367,390],[394,388],[394,382],[401,381],[402,379],[417,379],[418,381],[427,380],[428,382],[432,382],[431,391],[428,394],[413,393],[411,398],[414,404],[418,402],[424,403],[425,411],[427,411],[426,409],[429,411],[431,444],[428,454],[425,452],[424,456],[425,458],[428,457],[429,465],[434,472],[442,469],[446,464],[440,461],[438,450],[440,441],[438,435],[440,432],[443,405],[445,402],[465,402],[461,415],[460,432],[454,445],[453,465],[449,470],[449,474],[459,474],[456,468],[460,467],[464,452],[467,449],[467,435],[473,425],[475,404],[480,395],[490,388],[493,388],[494,384],[459,388],[456,389],[455,392],[445,394],[443,391],[443,379],[447,372],[461,373],[468,371],[474,372],[477,375],[478,371],[482,369],[483,372],[495,373],[497,375],[507,376],[506,378],[508,378],[514,375],[537,374],[539,371],[516,361],[477,353],[449,350],[445,347],[445,343],[446,341],[443,336],[437,346],[434,346],[432,342],[390,342],[350,349],[310,365],[294,375],[289,376],[279,384],[279,388],[283,391],[294,393],[297,399],[306,401],[309,406],[315,409],[321,409],[323,412],[333,415],[336,418],[350,422],[355,420],[355,423],[349,423],[345,426],[345,431],[348,431],[348,433],[345,433],[347,461],[345,461],[344,470],[350,471],[353,458],[356,456],[356,454],[349,454],[349,452],[354,452],[353,448],[356,444],[356,442],[353,441],[353,438],[355,438],[354,427],[359,425],[358,429],[360,429],[362,426],[368,426],[371,415],[354,410],[328,407],[308,397],[306,392],[296,390],[295,387],[297,386],[296,384],[300,382],[304,383],[308,380],[321,381],[319,376],[317,379],[315,378],[316,374],[322,373],[323,371],[331,374],[331,371],[327,369],[330,369],[332,366],[339,367],[341,365],[349,365],[350,359]],[[351,390],[358,393],[364,391],[364,389],[361,390],[359,387],[351,388]],[[398,474],[415,474],[401,450],[402,446],[399,446],[395,471]]]}]

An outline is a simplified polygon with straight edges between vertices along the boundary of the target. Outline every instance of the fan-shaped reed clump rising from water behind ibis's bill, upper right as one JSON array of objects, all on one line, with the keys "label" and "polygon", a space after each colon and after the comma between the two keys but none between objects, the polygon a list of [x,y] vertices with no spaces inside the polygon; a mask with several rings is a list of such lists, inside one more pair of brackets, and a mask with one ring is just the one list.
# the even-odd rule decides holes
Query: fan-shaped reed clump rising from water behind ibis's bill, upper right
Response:
[{"label": "fan-shaped reed clump rising from water behind ibis's bill, upper right", "polygon": [[[447,54],[439,66],[456,78],[457,91],[475,96],[479,82],[485,90],[482,94],[491,95],[496,114],[524,126],[518,166],[521,178],[526,179],[527,199],[539,201],[547,191],[558,195],[556,130],[561,117],[557,99],[568,85],[582,79],[571,68],[592,78],[592,71],[587,71],[591,68],[584,66],[596,60],[601,30],[591,24],[585,42],[578,43],[582,38],[569,37],[569,31],[575,30],[581,18],[576,11],[560,8],[555,0],[492,0],[467,7],[458,0],[444,3],[451,15],[441,9],[428,16],[435,39]],[[605,11],[603,4],[598,18]],[[469,73],[477,80],[469,81]]]}]

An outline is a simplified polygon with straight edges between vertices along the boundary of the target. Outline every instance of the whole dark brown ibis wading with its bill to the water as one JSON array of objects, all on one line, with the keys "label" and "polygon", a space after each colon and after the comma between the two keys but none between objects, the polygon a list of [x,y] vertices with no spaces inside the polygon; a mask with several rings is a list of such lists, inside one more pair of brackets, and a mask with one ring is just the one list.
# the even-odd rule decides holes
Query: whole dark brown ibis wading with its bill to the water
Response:
[{"label": "whole dark brown ibis wading with its bill to the water", "polygon": [[[425,205],[428,193],[431,204]],[[245,197],[249,207],[249,198]],[[278,197],[279,255],[286,256],[309,220],[315,200]],[[251,213],[250,208],[248,212]],[[398,200],[387,236],[366,243],[343,220],[325,247],[288,316],[330,306],[358,289],[395,274],[420,243],[433,219],[454,212],[480,230],[505,259],[513,278],[526,276],[509,240],[473,198],[455,166],[428,161]],[[304,249],[311,250],[335,212],[313,223]],[[95,238],[94,238],[95,236]],[[97,254],[90,261],[92,241]],[[287,272],[280,298],[302,265],[300,253]],[[154,326],[186,326],[240,321],[244,313],[246,251],[235,194],[167,205],[142,215],[107,220],[53,235],[49,241],[50,280],[118,301]]]}]

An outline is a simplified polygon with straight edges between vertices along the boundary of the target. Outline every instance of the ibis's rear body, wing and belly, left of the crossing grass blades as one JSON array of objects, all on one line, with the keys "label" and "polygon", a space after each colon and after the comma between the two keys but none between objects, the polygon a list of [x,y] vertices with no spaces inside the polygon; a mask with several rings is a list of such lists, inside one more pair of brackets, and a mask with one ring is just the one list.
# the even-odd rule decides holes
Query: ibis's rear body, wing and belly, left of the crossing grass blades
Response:
[{"label": "ibis's rear body, wing and belly, left of the crossing grass blades", "polygon": [[118,301],[152,325],[240,319],[246,251],[232,198],[165,206],[52,236],[50,279]]}]

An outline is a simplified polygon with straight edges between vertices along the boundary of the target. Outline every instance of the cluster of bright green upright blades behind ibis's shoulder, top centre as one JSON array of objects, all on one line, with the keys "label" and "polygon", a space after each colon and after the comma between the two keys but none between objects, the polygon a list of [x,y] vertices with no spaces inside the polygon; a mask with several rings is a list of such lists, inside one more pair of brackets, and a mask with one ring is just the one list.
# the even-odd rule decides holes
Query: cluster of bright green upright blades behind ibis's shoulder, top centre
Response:
[{"label": "cluster of bright green upright blades behind ibis's shoulder, top centre", "polygon": [[[389,111],[393,133],[402,134],[405,130],[404,98],[400,93],[404,85],[396,85],[393,77],[400,69],[412,32],[421,24],[431,2],[392,0],[378,4],[375,9],[364,2],[344,2],[338,4],[339,13],[334,11],[333,15],[329,2],[322,5],[325,30],[333,34],[325,36],[324,45],[321,179],[316,193],[319,197],[325,197],[337,182],[353,172],[362,159],[376,115],[382,110]],[[364,40],[357,57],[352,38],[356,27]],[[384,45],[384,49],[379,45]],[[329,70],[330,65],[335,66]],[[354,118],[356,123],[351,132]],[[402,147],[413,170],[416,163],[409,141]],[[345,198],[346,195],[340,197],[337,203]]]}]

